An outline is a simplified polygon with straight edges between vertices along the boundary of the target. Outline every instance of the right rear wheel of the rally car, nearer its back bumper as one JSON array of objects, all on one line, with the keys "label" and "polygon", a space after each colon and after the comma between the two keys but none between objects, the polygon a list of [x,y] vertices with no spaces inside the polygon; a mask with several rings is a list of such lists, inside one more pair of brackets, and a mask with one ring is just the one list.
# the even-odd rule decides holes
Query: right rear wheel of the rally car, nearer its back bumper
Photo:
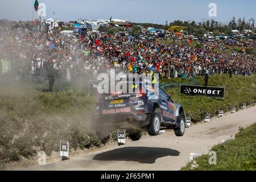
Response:
[{"label": "right rear wheel of the rally car, nearer its back bumper", "polygon": [[160,110],[159,108],[156,108],[152,114],[150,126],[148,129],[148,134],[151,136],[158,135],[160,131],[160,123],[161,123]]}]

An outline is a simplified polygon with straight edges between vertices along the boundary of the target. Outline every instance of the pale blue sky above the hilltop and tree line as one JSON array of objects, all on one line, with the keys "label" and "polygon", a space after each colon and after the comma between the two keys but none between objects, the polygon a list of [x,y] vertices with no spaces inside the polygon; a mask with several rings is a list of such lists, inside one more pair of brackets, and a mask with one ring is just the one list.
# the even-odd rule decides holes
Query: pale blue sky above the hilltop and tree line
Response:
[{"label": "pale blue sky above the hilltop and tree line", "polygon": [[[110,16],[131,22],[159,23],[166,20],[215,19],[228,22],[233,16],[256,19],[254,0],[38,0],[46,3],[46,19],[109,19]],[[0,19],[31,20],[35,0],[1,0]],[[209,3],[216,3],[217,17],[208,15]],[[37,17],[36,12],[34,18]]]}]

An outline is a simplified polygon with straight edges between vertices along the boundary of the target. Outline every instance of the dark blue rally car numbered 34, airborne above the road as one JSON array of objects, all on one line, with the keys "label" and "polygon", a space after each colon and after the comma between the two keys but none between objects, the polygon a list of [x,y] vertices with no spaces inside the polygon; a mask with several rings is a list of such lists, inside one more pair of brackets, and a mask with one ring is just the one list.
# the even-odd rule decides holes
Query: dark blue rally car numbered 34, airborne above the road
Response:
[{"label": "dark blue rally car numbered 34, airborne above the road", "polygon": [[[97,137],[106,141],[110,133],[125,129],[132,140],[139,140],[146,130],[149,135],[158,135],[160,130],[174,129],[176,136],[185,131],[185,111],[164,90],[156,85],[150,89],[141,83],[137,93],[101,94],[94,109],[92,127]],[[142,92],[146,89],[146,92]],[[154,90],[158,89],[157,96]]]}]

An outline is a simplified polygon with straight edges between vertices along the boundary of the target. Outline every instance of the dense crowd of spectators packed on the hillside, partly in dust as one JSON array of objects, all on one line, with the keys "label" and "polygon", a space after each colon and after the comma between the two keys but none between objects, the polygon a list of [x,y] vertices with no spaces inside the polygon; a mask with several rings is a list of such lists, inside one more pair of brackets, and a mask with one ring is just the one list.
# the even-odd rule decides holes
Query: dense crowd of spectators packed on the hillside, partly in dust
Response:
[{"label": "dense crowd of spectators packed on the hillside, partly in dust", "polygon": [[[45,27],[45,24],[43,24]],[[47,28],[4,28],[0,31],[0,60],[8,60],[18,78],[44,77],[49,62],[61,78],[95,78],[116,69],[124,73],[160,73],[162,77],[204,76],[206,73],[250,76],[255,56],[226,51],[225,40],[191,40],[169,35],[171,44],[150,34],[134,38],[120,33],[67,36]],[[195,46],[197,45],[201,46]],[[247,46],[242,42],[240,46]]]}]

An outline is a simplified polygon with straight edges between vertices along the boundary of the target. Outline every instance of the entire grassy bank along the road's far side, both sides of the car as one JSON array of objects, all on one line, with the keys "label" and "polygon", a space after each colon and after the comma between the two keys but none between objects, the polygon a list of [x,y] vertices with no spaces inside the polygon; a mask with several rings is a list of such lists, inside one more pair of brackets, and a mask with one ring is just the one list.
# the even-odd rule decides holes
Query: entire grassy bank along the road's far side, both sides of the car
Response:
[{"label": "entire grassy bank along the road's far side, both sides of the car", "polygon": [[[209,86],[226,87],[225,100],[179,94],[180,83],[203,85],[203,82],[203,77],[162,80],[162,84],[168,86],[166,92],[184,106],[192,122],[201,121],[207,112],[212,117],[219,109],[228,111],[231,106],[239,108],[243,102],[249,105],[256,100],[256,79],[244,76],[210,76]],[[38,92],[34,84],[1,83],[0,164],[18,161],[21,156],[34,158],[40,150],[51,155],[52,151],[59,151],[60,141],[68,141],[74,150],[104,145],[90,130],[95,97],[79,88],[70,89],[72,85],[67,84],[61,92]],[[116,137],[112,134],[110,141],[114,140]]]}]

